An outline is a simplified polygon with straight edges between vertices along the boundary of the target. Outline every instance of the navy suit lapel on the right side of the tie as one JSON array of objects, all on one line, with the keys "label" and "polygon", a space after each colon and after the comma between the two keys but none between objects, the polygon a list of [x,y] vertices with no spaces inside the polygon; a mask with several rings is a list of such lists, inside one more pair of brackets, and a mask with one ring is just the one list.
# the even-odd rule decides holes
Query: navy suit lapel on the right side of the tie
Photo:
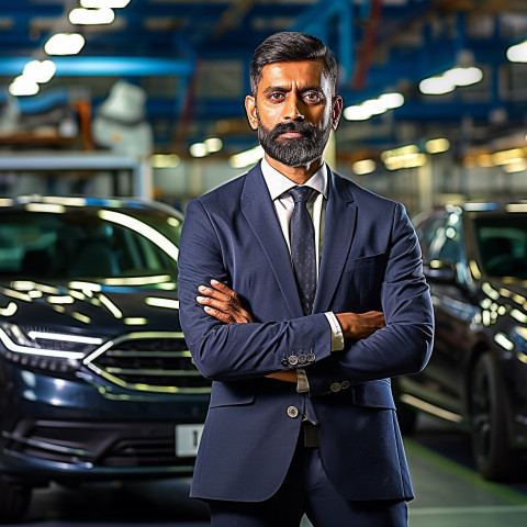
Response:
[{"label": "navy suit lapel on the right side of the tie", "polygon": [[329,309],[355,234],[357,208],[345,180],[328,170],[328,200],[314,313]]}]

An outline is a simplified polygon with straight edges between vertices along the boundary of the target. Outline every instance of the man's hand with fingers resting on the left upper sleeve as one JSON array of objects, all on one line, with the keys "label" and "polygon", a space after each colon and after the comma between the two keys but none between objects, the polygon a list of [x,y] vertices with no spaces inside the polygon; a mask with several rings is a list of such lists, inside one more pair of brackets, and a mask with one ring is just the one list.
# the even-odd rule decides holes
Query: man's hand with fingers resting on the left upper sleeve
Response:
[{"label": "man's hand with fingers resting on the left upper sleeve", "polygon": [[253,322],[250,313],[242,307],[238,295],[227,285],[211,280],[211,287],[200,285],[197,296],[199,304],[202,304],[205,313],[225,324],[246,324]]}]

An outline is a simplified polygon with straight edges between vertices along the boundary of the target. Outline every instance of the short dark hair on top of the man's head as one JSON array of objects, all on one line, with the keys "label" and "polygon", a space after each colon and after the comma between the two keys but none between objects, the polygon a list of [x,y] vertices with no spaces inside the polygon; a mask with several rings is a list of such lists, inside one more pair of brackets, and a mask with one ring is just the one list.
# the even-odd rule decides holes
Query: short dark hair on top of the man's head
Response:
[{"label": "short dark hair on top of the man's head", "polygon": [[255,52],[250,63],[250,89],[256,97],[264,66],[291,60],[322,60],[324,75],[329,78],[333,89],[337,83],[337,61],[327,46],[316,36],[283,31],[266,38]]}]

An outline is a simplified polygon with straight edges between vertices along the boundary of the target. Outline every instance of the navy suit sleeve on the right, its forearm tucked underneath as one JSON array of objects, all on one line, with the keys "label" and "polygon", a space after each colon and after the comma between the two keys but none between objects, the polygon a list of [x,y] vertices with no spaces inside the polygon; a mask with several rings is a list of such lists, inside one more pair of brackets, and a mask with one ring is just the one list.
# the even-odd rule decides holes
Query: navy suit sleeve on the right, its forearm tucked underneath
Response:
[{"label": "navy suit sleeve on the right, its forearm tucked underneath", "polygon": [[392,218],[381,303],[384,328],[361,340],[347,339],[343,351],[306,369],[311,396],[328,393],[333,382],[416,373],[428,362],[434,335],[431,301],[417,236],[401,204]]}]

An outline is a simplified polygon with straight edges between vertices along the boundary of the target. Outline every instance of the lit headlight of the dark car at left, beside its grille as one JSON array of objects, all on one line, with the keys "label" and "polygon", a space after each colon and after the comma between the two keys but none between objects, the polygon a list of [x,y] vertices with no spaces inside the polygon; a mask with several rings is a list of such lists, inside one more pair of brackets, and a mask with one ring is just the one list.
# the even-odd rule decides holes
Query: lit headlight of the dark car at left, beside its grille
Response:
[{"label": "lit headlight of the dark car at left, beside its grille", "polygon": [[[3,354],[13,362],[53,370],[57,361],[78,366],[77,361],[99,347],[103,339],[27,328],[4,322],[0,324],[0,341],[4,347]],[[64,367],[59,370],[66,371]]]}]

